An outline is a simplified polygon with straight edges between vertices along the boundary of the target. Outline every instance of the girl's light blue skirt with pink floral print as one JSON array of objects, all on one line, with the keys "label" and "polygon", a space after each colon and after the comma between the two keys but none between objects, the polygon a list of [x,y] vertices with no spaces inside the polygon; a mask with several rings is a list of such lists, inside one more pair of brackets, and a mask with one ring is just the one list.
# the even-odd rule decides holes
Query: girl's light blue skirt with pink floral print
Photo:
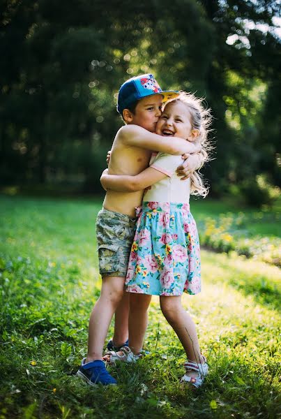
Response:
[{"label": "girl's light blue skirt with pink floral print", "polygon": [[144,202],[137,216],[126,291],[149,295],[199,293],[199,237],[189,205]]}]

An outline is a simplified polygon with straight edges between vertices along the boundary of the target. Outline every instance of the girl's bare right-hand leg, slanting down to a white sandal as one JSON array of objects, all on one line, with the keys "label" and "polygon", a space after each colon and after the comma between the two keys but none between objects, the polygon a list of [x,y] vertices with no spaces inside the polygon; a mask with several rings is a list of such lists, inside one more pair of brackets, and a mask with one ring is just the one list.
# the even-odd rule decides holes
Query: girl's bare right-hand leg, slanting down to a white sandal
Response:
[{"label": "girl's bare right-hand leg, slanting down to a white sandal", "polygon": [[166,320],[178,335],[188,360],[204,364],[195,323],[181,305],[181,295],[160,296],[160,306]]}]

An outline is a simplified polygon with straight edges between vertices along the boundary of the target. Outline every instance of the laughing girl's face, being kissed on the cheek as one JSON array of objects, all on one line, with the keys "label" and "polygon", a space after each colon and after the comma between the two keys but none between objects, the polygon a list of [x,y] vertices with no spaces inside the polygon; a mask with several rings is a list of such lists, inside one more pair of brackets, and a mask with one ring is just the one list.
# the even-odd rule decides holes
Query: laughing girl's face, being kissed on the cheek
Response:
[{"label": "laughing girl's face, being kissed on the cheek", "polygon": [[190,112],[185,103],[176,101],[168,103],[156,125],[156,134],[180,137],[191,140],[192,125],[190,123]]}]

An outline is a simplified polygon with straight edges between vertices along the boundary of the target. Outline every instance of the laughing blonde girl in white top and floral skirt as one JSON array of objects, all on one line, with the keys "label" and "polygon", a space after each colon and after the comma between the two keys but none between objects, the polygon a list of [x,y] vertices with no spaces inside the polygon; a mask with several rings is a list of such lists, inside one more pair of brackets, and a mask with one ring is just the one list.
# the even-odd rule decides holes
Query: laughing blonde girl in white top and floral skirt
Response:
[{"label": "laughing blonde girl in white top and floral skirt", "polygon": [[[208,160],[207,134],[211,122],[202,100],[181,92],[167,102],[156,126],[156,133],[186,138],[202,145],[202,165]],[[195,172],[181,180],[175,170],[181,156],[158,153],[151,157],[150,167],[136,176],[102,174],[105,189],[137,191],[146,189],[132,244],[126,277],[130,292],[129,347],[121,352],[109,351],[105,360],[134,362],[139,358],[146,330],[146,310],[151,295],[160,295],[160,307],[178,335],[187,361],[181,382],[199,387],[208,373],[206,358],[201,355],[195,323],[181,305],[181,295],[201,291],[199,238],[190,213],[189,196],[206,196],[208,189]],[[146,298],[147,304],[140,299]],[[145,308],[144,308],[145,306]],[[142,307],[142,312],[138,309]]]}]

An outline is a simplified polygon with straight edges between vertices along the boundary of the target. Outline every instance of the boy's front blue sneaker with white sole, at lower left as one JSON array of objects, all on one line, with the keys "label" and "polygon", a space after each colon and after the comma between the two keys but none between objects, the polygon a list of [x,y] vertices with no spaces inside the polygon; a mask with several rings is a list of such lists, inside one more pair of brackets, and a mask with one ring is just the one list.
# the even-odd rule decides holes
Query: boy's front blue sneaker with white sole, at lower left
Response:
[{"label": "boy's front blue sneaker with white sole, at lower left", "polygon": [[89,385],[116,385],[117,381],[113,378],[107,369],[105,368],[105,362],[96,360],[92,362],[87,362],[85,364],[86,358],[81,362],[81,365],[76,373],[77,376],[86,381]]}]

